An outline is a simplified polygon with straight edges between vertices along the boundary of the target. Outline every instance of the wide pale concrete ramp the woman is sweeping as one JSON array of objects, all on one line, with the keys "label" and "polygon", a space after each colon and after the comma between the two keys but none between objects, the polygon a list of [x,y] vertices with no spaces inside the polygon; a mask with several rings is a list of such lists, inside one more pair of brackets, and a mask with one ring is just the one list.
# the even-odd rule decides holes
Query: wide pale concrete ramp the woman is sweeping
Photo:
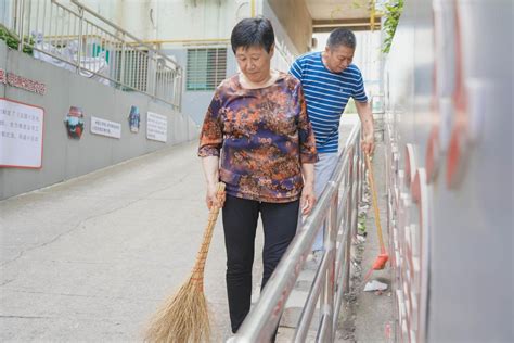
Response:
[{"label": "wide pale concrete ramp the woman is sweeping", "polygon": [[[0,341],[141,341],[189,275],[207,223],[195,150],[177,145],[0,202]],[[205,281],[217,341],[229,334],[224,254],[218,220]]]}]

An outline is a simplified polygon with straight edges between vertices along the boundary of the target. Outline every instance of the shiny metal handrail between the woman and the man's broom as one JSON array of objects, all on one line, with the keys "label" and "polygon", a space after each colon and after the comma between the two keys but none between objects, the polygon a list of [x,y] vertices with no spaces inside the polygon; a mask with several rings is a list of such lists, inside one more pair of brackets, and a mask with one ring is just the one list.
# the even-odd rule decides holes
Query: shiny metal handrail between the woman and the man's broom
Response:
[{"label": "shiny metal handrail between the woman and the man's broom", "polygon": [[[270,340],[323,223],[327,228],[324,233],[323,257],[312,281],[293,341],[305,342],[319,300],[321,300],[321,320],[316,340],[317,342],[334,340],[343,295],[349,291],[351,239],[357,233],[363,168],[360,125],[356,125],[316,207],[299,228],[262,290],[259,301],[231,342],[250,343]],[[344,195],[340,199],[339,190],[343,190]]]}]

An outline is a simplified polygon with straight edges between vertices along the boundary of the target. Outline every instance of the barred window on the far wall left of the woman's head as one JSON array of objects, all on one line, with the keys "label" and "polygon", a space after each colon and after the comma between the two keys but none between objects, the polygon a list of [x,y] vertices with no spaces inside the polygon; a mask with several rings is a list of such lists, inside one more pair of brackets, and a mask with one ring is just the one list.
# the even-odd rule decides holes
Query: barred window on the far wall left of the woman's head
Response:
[{"label": "barred window on the far wall left of the woman's head", "polygon": [[188,49],[187,90],[214,90],[227,77],[227,48]]}]

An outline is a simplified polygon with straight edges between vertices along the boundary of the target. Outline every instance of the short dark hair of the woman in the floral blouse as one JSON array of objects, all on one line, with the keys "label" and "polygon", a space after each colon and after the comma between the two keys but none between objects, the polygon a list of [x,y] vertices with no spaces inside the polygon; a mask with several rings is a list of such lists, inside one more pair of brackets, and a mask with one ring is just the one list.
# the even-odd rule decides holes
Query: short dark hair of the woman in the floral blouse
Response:
[{"label": "short dark hair of the woman in the floral blouse", "polygon": [[232,29],[230,42],[234,53],[241,47],[262,47],[269,53],[274,42],[273,26],[265,17],[244,18]]}]

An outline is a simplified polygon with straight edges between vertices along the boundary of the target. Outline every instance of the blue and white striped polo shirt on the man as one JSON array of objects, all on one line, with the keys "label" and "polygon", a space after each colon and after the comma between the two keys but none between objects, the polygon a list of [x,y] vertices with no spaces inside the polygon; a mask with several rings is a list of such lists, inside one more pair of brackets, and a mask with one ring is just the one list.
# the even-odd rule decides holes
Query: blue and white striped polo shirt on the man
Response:
[{"label": "blue and white striped polo shirt on the man", "polygon": [[359,68],[350,64],[343,73],[332,73],[321,52],[311,52],[297,59],[290,73],[301,81],[318,152],[337,152],[339,119],[348,99],[368,102]]}]

